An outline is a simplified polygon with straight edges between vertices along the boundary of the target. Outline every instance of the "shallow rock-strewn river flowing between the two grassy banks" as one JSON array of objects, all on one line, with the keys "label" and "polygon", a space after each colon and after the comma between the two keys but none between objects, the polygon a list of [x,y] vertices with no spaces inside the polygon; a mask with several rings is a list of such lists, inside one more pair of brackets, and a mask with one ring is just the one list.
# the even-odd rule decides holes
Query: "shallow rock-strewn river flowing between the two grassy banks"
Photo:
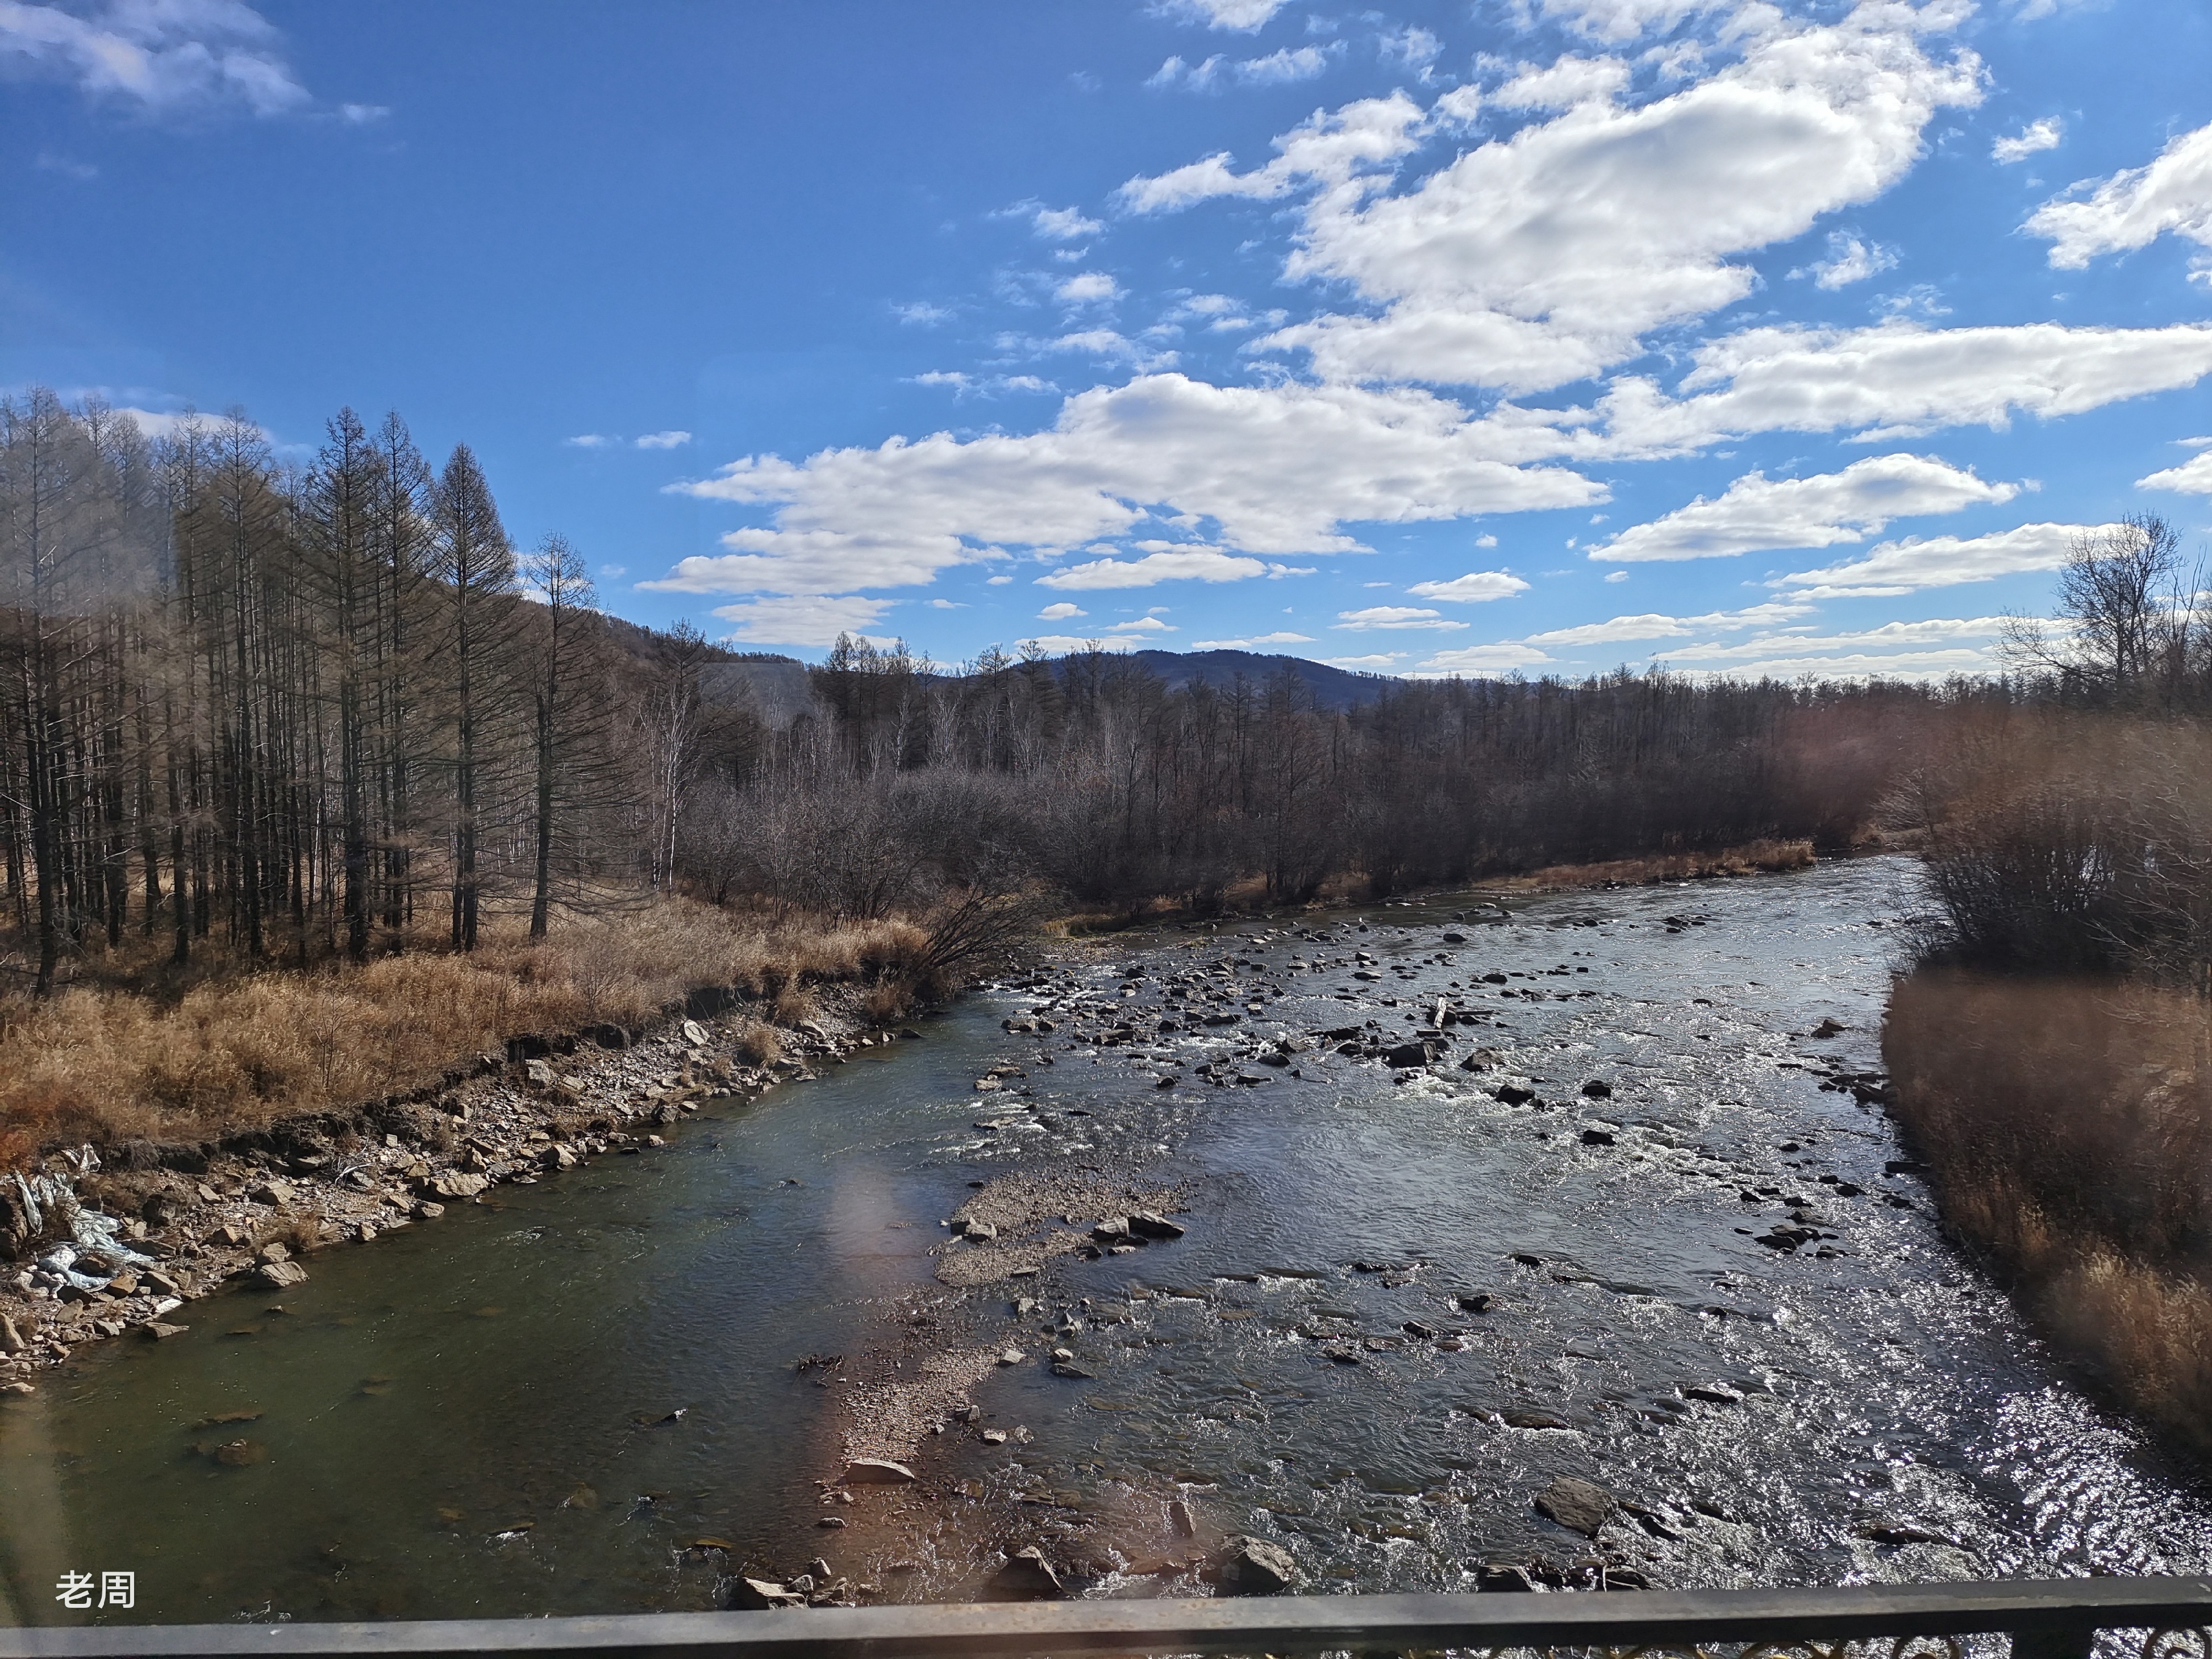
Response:
[{"label": "shallow rock-strewn river flowing between the two grassy banks", "polygon": [[1051,947],[646,1157],[80,1349],[0,1402],[0,1613],[108,1566],[142,1619],[2203,1571],[2199,1484],[1882,1117],[1909,894]]}]

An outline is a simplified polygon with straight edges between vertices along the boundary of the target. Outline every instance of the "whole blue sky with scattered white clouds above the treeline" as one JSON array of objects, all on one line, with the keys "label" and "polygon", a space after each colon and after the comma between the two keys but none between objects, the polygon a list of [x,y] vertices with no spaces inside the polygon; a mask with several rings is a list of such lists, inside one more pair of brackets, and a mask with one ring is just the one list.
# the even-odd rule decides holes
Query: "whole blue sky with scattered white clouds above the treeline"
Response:
[{"label": "whole blue sky with scattered white clouds above the treeline", "polygon": [[818,655],[1995,666],[2212,522],[2181,0],[0,0],[0,385]]}]

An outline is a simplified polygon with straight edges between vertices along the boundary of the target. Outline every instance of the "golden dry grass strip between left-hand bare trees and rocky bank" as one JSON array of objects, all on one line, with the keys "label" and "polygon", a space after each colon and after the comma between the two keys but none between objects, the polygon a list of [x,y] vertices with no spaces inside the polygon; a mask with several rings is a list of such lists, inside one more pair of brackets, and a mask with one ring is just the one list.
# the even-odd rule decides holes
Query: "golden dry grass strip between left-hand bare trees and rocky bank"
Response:
[{"label": "golden dry grass strip between left-hand bare trees and rocky bank", "polygon": [[84,984],[13,998],[0,1002],[0,1168],[55,1144],[208,1139],[354,1106],[518,1033],[644,1024],[699,987],[818,1013],[805,982],[896,975],[925,945],[907,922],[765,922],[677,898],[566,920],[535,947],[500,922],[471,956],[261,971],[173,1000]]}]

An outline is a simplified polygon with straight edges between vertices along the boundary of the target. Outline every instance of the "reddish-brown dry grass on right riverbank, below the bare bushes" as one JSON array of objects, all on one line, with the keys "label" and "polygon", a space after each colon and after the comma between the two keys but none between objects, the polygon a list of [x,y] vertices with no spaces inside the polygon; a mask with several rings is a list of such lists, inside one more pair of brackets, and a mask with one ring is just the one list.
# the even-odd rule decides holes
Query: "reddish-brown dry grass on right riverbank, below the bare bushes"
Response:
[{"label": "reddish-brown dry grass on right riverbank, below the bare bushes", "polygon": [[2205,1009],[2168,991],[1927,969],[1898,982],[1882,1035],[1944,1223],[2128,1409],[2201,1453],[2205,1037]]}]

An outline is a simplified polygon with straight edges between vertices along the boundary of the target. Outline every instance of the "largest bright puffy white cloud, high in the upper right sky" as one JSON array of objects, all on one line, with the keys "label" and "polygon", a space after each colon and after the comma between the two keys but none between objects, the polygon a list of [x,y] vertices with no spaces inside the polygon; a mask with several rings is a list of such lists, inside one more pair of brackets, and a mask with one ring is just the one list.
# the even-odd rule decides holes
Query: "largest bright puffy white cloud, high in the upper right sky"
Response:
[{"label": "largest bright puffy white cloud, high in the upper right sky", "polygon": [[1365,100],[1276,139],[1265,168],[1225,155],[1133,179],[1139,212],[1214,195],[1314,188],[1287,274],[1349,283],[1378,314],[1329,314],[1267,336],[1316,374],[1546,389],[1644,349],[1655,327],[1752,292],[1732,254],[1790,241],[1893,186],[1942,106],[1975,104],[1980,62],[1936,60],[1920,33],[1955,9],[1869,0],[1834,24],[1770,18],[1741,62],[1646,104],[1617,104],[1626,66],[1566,58],[1491,95],[1568,104],[1478,144],[1418,186],[1378,168],[1427,131],[1402,95]]}]

